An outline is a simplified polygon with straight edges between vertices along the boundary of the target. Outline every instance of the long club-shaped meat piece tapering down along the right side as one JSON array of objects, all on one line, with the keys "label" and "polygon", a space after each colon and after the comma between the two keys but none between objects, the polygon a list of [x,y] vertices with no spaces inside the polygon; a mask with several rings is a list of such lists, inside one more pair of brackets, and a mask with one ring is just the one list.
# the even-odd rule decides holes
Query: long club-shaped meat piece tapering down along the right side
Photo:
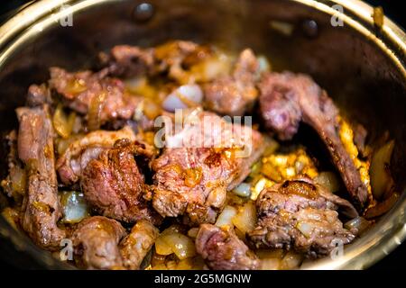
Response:
[{"label": "long club-shaped meat piece tapering down along the right side", "polygon": [[260,84],[260,109],[265,126],[280,139],[291,139],[303,121],[318,132],[326,144],[346,189],[354,201],[364,207],[368,190],[341,142],[338,130],[338,109],[309,76],[289,72],[271,73]]}]

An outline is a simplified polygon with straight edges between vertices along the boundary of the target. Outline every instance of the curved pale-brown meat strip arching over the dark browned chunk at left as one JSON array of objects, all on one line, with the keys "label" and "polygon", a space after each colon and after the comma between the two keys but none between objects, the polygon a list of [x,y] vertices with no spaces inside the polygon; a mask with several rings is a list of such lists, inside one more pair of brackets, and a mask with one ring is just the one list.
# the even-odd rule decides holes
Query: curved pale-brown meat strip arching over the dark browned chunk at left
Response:
[{"label": "curved pale-brown meat strip arching over the dark browned chunk at left", "polygon": [[60,156],[56,168],[64,184],[78,182],[83,169],[91,159],[97,158],[101,151],[113,148],[118,139],[136,139],[134,131],[125,126],[122,130],[96,130],[81,139],[70,143],[69,148]]}]

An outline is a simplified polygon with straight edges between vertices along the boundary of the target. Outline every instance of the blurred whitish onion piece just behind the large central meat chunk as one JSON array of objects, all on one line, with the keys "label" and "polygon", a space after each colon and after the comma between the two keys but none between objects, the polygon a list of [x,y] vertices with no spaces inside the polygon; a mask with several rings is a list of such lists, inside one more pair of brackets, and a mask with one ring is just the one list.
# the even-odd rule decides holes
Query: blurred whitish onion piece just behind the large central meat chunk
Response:
[{"label": "blurred whitish onion piece just behind the large central meat chunk", "polygon": [[168,112],[199,105],[203,101],[203,91],[199,85],[181,85],[162,102],[162,108]]}]

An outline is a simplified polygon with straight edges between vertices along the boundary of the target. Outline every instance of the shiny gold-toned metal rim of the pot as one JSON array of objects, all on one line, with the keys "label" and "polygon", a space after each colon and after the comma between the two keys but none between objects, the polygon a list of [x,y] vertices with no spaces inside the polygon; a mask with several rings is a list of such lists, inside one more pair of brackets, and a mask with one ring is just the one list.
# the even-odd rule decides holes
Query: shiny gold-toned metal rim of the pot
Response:
[{"label": "shiny gold-toned metal rim of the pot", "polygon": [[[0,67],[5,64],[20,45],[31,39],[36,34],[48,29],[59,19],[68,14],[75,14],[86,10],[88,7],[98,4],[119,3],[123,0],[42,0],[31,4],[12,19],[0,27]],[[227,0],[222,0],[227,1]],[[384,17],[380,36],[374,31],[372,14],[374,8],[359,0],[291,0],[298,4],[305,4],[326,14],[338,15],[346,25],[363,34],[383,51],[398,67],[406,81],[406,33],[387,17]],[[141,1],[140,1],[141,2]],[[60,10],[63,4],[69,5],[69,9]],[[332,6],[339,4],[344,8],[344,14],[339,14]],[[329,258],[318,260],[302,266],[304,269],[363,269],[372,266],[376,261],[389,254],[399,246],[406,238],[406,197],[402,193],[401,200],[381,220],[383,225],[375,226],[369,233],[369,238],[358,239],[362,246],[351,245],[347,247],[342,257],[332,261]],[[1,219],[0,222],[5,222]],[[1,227],[3,226],[3,227]],[[69,268],[56,258],[47,255],[39,257],[42,250],[35,247],[31,241],[10,226],[0,226],[0,234],[10,238],[15,247],[27,250],[32,257],[38,257],[45,266]],[[374,235],[374,236],[373,236]],[[30,248],[29,248],[30,247]]]}]

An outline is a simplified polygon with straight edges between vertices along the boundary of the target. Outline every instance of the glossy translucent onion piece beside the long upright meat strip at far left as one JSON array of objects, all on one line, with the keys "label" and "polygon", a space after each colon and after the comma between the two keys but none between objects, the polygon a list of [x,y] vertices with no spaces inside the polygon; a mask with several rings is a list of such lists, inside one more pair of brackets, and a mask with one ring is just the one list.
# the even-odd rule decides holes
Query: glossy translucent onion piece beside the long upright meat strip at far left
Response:
[{"label": "glossy translucent onion piece beside the long upright meat strip at far left", "polygon": [[60,196],[63,218],[62,223],[78,223],[89,216],[88,204],[83,193],[77,191],[63,192]]}]

